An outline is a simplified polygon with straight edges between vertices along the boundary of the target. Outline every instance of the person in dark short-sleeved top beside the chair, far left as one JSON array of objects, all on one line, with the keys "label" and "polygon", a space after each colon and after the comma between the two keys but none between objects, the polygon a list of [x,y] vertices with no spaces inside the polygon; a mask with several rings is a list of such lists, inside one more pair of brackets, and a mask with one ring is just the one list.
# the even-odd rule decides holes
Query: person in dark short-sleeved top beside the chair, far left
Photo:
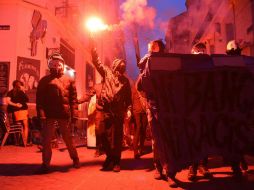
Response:
[{"label": "person in dark short-sleeved top beside the chair, far left", "polygon": [[[23,91],[23,83],[19,80],[15,80],[12,83],[13,89],[7,93],[7,112],[11,114],[13,121],[20,120],[23,122],[24,126],[24,146],[27,145],[28,140],[28,106],[29,101],[28,96]],[[24,110],[21,117],[15,117],[15,114],[19,111]],[[20,112],[21,113],[21,112]],[[16,115],[17,116],[17,115]]]}]

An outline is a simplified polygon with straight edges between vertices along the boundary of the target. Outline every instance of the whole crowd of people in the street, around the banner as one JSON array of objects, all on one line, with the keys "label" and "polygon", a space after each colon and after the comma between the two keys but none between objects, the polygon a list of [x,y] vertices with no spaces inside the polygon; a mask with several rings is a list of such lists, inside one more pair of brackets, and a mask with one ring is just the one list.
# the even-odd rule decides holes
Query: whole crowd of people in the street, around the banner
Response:
[{"label": "whole crowd of people in the street, around the banner", "polygon": [[[162,40],[151,41],[148,44],[148,54],[137,64],[142,75],[147,60],[154,53],[163,53],[165,45]],[[192,54],[206,54],[206,46],[203,43],[196,44],[191,50]],[[241,55],[241,49],[232,41],[227,50],[228,55]],[[78,104],[88,102],[96,96],[95,133],[96,156],[105,153],[106,158],[101,170],[120,172],[121,151],[123,145],[123,126],[125,118],[133,118],[134,139],[133,158],[140,159],[144,154],[144,142],[147,126],[151,127],[152,134],[158,127],[157,105],[150,101],[143,91],[142,79],[131,85],[125,75],[126,62],[115,59],[112,67],[103,64],[97,54],[96,48],[92,48],[92,63],[101,75],[101,83],[96,84],[82,99],[77,99],[75,81],[64,75],[65,60],[59,53],[52,54],[48,59],[50,73],[44,76],[38,84],[36,93],[37,116],[42,125],[42,172],[50,170],[52,157],[51,142],[58,126],[62,138],[67,146],[73,167],[79,168],[79,156],[70,134],[70,125],[75,122]],[[22,121],[24,126],[24,146],[28,145],[28,103],[29,99],[23,89],[21,81],[13,82],[13,89],[7,93],[7,112],[14,121]],[[155,167],[155,179],[163,179],[166,175],[169,186],[177,187],[176,173],[164,171],[160,161],[159,143],[152,135],[153,163]],[[211,178],[208,169],[208,157],[200,162],[193,163],[189,167],[188,179],[194,181],[199,171],[204,177]],[[244,158],[241,159],[242,169],[248,166]],[[240,162],[231,163],[233,173],[241,176]]]}]

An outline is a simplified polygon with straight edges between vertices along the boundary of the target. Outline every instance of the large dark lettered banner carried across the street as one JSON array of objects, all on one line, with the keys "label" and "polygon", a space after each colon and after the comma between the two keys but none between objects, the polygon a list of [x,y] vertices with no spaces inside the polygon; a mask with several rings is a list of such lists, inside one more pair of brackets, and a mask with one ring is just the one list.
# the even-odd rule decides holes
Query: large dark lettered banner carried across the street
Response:
[{"label": "large dark lettered banner carried across the street", "polygon": [[[195,63],[184,65],[181,56],[163,60],[150,59],[142,84],[149,101],[156,105],[155,110],[151,107],[157,115],[153,135],[168,170],[179,171],[212,154],[237,159],[253,148],[251,67],[213,66],[211,58],[196,60],[196,67]],[[174,60],[173,67],[167,60]],[[223,60],[228,61],[227,57]]]}]

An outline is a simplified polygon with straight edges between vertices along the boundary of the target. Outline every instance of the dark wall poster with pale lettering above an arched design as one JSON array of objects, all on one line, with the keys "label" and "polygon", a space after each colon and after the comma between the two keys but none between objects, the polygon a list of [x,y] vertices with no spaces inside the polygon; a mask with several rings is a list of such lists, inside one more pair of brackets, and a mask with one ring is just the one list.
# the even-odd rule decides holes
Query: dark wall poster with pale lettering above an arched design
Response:
[{"label": "dark wall poster with pale lettering above an arched design", "polygon": [[18,57],[17,80],[24,83],[30,103],[35,103],[36,89],[40,80],[40,60]]}]

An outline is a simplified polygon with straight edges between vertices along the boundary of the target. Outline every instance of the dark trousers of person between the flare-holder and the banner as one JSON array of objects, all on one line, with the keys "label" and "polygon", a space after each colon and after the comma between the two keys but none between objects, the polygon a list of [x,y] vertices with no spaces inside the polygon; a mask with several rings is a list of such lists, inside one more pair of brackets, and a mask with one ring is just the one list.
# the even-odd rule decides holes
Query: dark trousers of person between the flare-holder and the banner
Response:
[{"label": "dark trousers of person between the flare-holder and the banner", "polygon": [[138,150],[144,148],[146,138],[146,126],[148,124],[146,113],[134,113],[135,133],[133,141],[134,154],[138,154]]}]

